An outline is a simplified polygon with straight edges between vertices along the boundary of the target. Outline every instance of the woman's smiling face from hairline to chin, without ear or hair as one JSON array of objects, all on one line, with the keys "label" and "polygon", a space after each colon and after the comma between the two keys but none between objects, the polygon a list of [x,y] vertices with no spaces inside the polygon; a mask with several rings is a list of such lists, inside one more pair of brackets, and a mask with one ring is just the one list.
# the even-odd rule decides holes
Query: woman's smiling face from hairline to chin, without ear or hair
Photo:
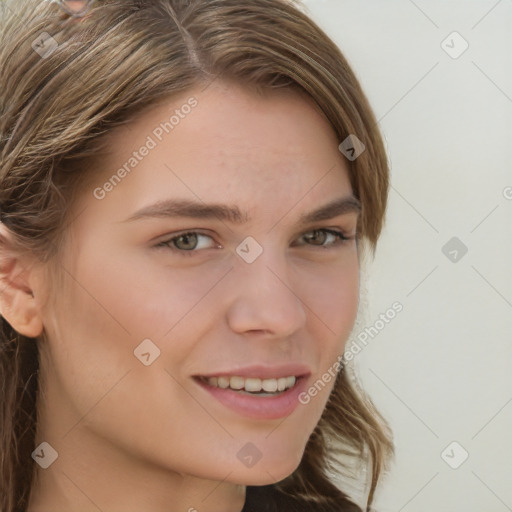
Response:
[{"label": "woman's smiling face from hairline to chin, without ear or hair", "polygon": [[110,469],[135,485],[134,468],[258,485],[298,466],[358,307],[355,203],[313,215],[352,197],[337,146],[305,96],[219,81],[112,134],[42,309],[39,441],[81,486]]}]

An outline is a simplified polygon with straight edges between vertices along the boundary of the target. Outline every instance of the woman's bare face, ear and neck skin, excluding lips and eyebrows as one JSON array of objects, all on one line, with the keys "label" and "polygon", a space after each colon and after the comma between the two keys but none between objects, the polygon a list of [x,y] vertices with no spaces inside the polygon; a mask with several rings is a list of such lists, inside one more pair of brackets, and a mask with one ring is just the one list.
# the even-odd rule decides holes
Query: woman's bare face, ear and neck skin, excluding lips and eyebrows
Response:
[{"label": "woman's bare face, ear and neck skin, excluding lips and eyebrows", "polygon": [[[191,96],[197,107],[96,199],[93,190]],[[43,266],[3,256],[2,314],[39,337],[36,446],[59,454],[48,469],[36,465],[28,512],[239,512],[246,485],[297,468],[333,381],[284,420],[262,420],[226,408],[192,375],[298,361],[313,384],[343,353],[359,302],[357,244],[308,239],[324,228],[353,236],[358,214],[298,223],[351,195],[337,146],[305,95],[216,81],[112,132],[111,153],[73,205],[58,289]],[[251,220],[124,222],[157,200],[198,197],[236,204]],[[184,230],[207,235],[195,252],[180,253],[183,240],[174,251],[155,247]],[[236,253],[247,236],[264,249],[251,264]],[[146,338],[161,351],[150,366],[134,357]],[[251,468],[237,458],[247,442],[262,454]]]}]

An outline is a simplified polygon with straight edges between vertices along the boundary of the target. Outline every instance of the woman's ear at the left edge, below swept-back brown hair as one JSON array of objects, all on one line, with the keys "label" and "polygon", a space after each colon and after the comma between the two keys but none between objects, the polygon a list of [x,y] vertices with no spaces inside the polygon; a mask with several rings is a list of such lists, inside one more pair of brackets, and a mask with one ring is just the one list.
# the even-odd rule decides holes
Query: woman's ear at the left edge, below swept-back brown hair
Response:
[{"label": "woman's ear at the left edge, below swept-back brown hair", "polygon": [[31,287],[34,272],[16,251],[11,231],[0,222],[0,314],[28,338],[37,338],[43,332],[40,308]]}]

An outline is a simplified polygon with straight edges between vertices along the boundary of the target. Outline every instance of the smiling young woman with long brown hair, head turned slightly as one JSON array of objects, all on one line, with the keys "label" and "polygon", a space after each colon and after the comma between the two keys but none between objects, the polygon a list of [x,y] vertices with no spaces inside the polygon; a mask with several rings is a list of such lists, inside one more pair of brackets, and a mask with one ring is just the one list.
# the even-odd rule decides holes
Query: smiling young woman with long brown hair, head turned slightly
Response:
[{"label": "smiling young woman with long brown hair, head turned slightly", "polygon": [[357,511],[342,354],[388,167],[285,0],[7,2],[0,509]]}]

